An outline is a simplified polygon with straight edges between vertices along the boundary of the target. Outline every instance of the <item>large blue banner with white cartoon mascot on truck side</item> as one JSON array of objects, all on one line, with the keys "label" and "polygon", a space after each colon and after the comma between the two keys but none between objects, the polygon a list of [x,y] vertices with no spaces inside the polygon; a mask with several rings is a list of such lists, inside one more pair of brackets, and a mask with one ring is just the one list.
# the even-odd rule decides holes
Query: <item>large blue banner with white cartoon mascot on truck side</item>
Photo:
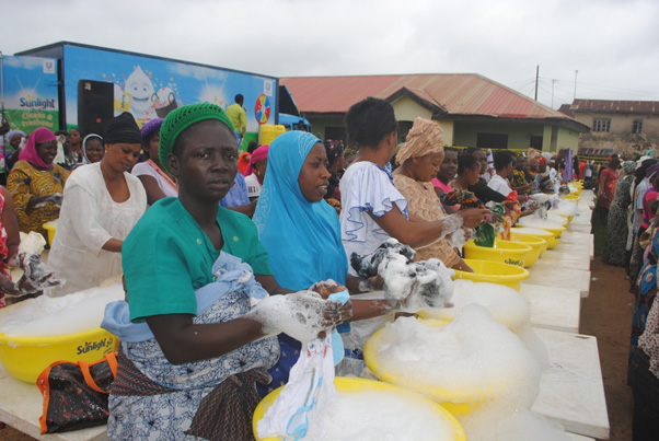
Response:
[{"label": "large blue banner with white cartoon mascot on truck side", "polygon": [[[112,105],[115,115],[130,112],[142,126],[148,120],[164,117],[172,109],[186,104],[209,102],[227,108],[234,103],[236,94],[244,96],[247,131],[257,131],[258,125],[264,124],[264,120],[269,124],[275,121],[275,78],[114,50],[77,46],[65,46],[63,49],[69,127],[81,124],[79,115],[81,118],[86,115],[86,111],[80,112],[79,106],[89,106],[93,112],[100,112],[99,106]],[[95,103],[88,103],[89,100],[79,96],[79,93],[89,92],[89,96],[96,96],[93,92],[95,82],[112,83],[114,92],[111,97],[93,97],[89,100],[94,100]],[[254,111],[257,105],[258,114]]]}]

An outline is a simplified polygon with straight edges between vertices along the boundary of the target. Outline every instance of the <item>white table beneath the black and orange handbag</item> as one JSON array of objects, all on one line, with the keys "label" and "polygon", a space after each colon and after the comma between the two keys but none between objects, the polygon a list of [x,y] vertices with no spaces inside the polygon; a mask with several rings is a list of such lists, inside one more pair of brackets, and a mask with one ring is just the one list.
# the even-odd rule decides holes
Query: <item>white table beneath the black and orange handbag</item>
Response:
[{"label": "white table beneath the black and orange handbag", "polygon": [[105,426],[72,432],[41,434],[39,417],[43,398],[36,384],[11,376],[0,364],[0,421],[37,440],[101,441],[107,440]]}]

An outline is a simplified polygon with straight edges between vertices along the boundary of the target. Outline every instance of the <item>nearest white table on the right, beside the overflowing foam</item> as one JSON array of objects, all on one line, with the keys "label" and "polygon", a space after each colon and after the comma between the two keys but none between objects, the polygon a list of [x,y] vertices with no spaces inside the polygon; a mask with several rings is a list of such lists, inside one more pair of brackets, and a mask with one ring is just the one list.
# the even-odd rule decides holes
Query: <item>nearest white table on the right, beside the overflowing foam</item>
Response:
[{"label": "nearest white table on the right, beside the overflowing foam", "polygon": [[532,410],[565,430],[609,439],[609,415],[597,338],[534,328],[547,346],[551,367],[540,381]]}]

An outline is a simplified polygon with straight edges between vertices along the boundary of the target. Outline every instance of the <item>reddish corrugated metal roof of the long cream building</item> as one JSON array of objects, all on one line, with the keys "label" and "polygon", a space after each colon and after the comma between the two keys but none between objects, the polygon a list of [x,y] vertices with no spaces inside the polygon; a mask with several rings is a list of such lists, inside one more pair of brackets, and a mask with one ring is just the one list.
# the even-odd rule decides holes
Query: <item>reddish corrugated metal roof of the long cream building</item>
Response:
[{"label": "reddish corrugated metal roof of the long cream building", "polygon": [[386,100],[403,89],[453,115],[571,119],[475,73],[282,78],[302,113],[345,113],[366,98]]}]

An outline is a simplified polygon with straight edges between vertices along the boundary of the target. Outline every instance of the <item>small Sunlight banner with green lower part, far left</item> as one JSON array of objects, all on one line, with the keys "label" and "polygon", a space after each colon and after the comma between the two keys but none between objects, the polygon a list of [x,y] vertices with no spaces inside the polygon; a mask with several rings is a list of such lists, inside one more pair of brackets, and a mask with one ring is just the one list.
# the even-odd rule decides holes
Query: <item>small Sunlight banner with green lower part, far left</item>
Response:
[{"label": "small Sunlight banner with green lower part, far left", "polygon": [[2,56],[4,109],[11,130],[30,135],[39,127],[59,128],[57,60]]}]

